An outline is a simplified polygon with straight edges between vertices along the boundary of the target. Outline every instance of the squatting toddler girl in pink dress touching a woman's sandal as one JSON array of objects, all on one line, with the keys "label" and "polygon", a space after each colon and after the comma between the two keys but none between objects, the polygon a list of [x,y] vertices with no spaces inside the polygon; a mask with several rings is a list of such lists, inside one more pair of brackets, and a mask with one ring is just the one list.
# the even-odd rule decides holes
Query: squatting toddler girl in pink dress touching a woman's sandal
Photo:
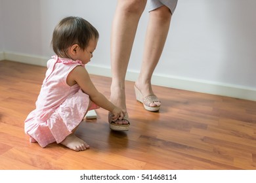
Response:
[{"label": "squatting toddler girl in pink dress touching a woman's sandal", "polygon": [[102,107],[116,124],[123,119],[123,111],[96,90],[85,69],[97,41],[98,31],[83,18],[70,16],[55,27],[52,44],[56,56],[47,61],[35,110],[25,120],[30,142],[43,148],[56,142],[75,151],[86,150],[89,145],[74,132],[88,110]]}]

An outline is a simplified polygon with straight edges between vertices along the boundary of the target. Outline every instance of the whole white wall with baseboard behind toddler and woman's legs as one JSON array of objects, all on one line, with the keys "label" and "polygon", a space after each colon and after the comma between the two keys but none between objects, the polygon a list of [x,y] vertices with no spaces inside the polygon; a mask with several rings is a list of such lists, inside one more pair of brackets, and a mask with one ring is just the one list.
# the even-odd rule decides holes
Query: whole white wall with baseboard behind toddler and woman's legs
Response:
[{"label": "whole white wall with baseboard behind toddler and woman's legs", "polygon": [[[53,55],[50,42],[57,22],[64,16],[82,16],[100,33],[89,72],[110,76],[110,31],[117,1],[0,2],[5,59],[45,65]],[[254,0],[179,0],[153,84],[256,100],[255,7]],[[139,73],[147,21],[145,11],[127,80],[136,80]]]}]

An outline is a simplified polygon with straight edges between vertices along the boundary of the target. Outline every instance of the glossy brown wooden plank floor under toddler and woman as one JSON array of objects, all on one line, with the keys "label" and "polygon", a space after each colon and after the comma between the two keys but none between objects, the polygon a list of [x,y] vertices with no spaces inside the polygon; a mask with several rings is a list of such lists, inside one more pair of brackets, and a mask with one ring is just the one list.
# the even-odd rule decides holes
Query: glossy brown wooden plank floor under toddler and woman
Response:
[{"label": "glossy brown wooden plank floor under toddler and woman", "polygon": [[[46,68],[0,61],[0,169],[256,169],[256,102],[154,86],[160,112],[148,112],[127,82],[127,132],[109,129],[106,110],[77,135],[91,148],[30,144],[24,120]],[[92,76],[110,96],[110,78]]]}]

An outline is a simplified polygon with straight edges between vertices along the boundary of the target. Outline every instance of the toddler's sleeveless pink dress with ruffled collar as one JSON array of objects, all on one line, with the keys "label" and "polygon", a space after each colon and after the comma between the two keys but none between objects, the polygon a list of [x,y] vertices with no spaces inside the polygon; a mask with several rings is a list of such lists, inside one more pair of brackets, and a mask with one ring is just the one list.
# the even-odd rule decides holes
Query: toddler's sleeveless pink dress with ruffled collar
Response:
[{"label": "toddler's sleeveless pink dress with ruffled collar", "polygon": [[66,78],[75,67],[85,67],[81,61],[53,56],[47,62],[45,80],[35,103],[35,110],[25,120],[25,133],[30,142],[41,147],[62,142],[79,125],[85,112],[98,108],[78,84],[68,86]]}]

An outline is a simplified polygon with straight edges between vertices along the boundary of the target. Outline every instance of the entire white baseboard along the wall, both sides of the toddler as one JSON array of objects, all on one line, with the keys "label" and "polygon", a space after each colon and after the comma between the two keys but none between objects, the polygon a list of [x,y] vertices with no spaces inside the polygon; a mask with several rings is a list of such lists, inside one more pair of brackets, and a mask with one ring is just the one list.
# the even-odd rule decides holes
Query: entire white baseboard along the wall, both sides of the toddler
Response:
[{"label": "entire white baseboard along the wall, both sides of the toddler", "polygon": [[[16,54],[12,52],[3,52],[0,53],[0,60],[3,59],[28,63],[32,65],[46,66],[47,60],[49,58],[26,54]],[[86,67],[87,71],[92,75],[111,77],[110,67],[102,67],[101,65],[90,64],[88,64]],[[127,71],[126,80],[135,81],[138,76],[139,73],[135,71]],[[179,78],[167,75],[153,75],[152,84],[157,86],[165,86],[168,88],[188,90],[192,92],[209,93],[213,95],[222,95],[226,97],[256,101],[256,88],[245,88],[244,86],[238,85],[223,84],[207,80],[192,80],[190,78]]]}]

